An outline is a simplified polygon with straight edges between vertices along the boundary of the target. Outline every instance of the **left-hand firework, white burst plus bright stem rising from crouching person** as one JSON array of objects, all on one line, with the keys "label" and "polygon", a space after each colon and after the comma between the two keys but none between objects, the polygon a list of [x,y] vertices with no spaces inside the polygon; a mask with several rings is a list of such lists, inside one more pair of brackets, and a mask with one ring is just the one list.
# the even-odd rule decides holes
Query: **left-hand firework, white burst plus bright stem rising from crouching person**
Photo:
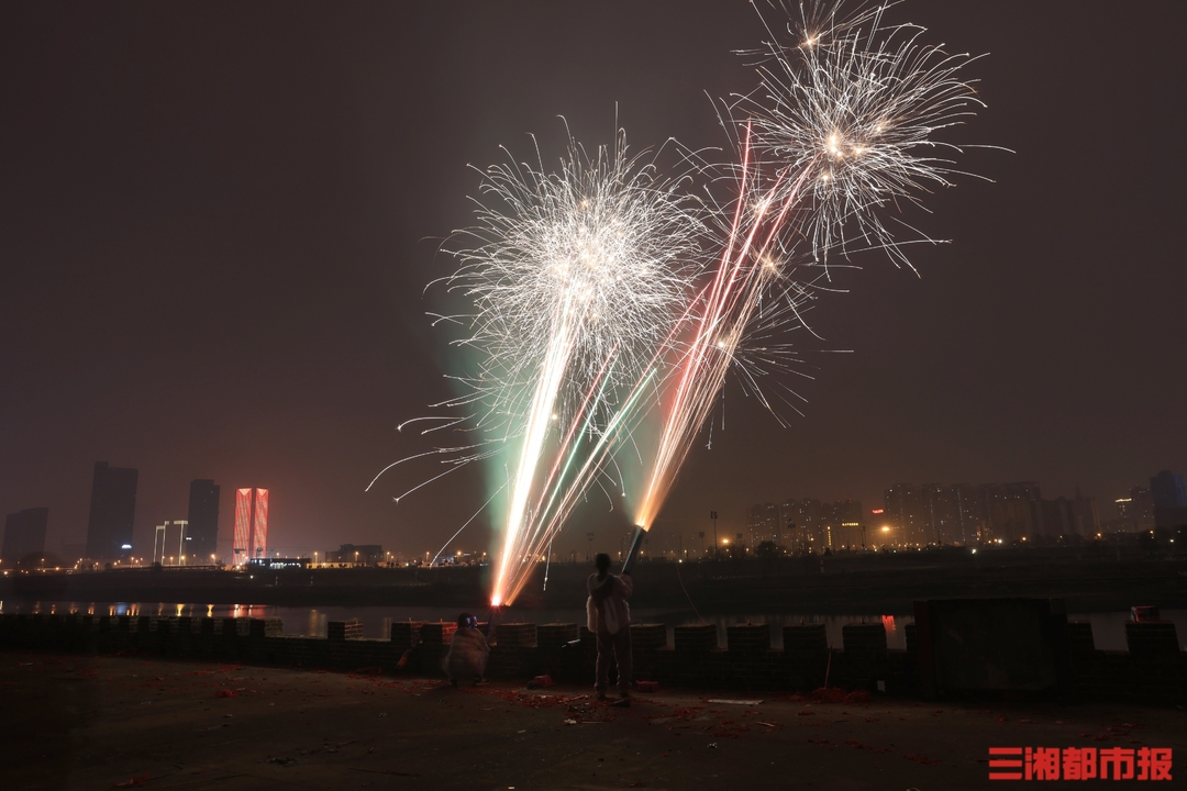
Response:
[{"label": "left-hand firework, white burst plus bright stem rising from crouching person", "polygon": [[484,358],[463,379],[470,393],[450,406],[477,404],[475,426],[515,454],[491,597],[501,604],[554,535],[557,512],[541,512],[541,503],[572,508],[552,490],[573,485],[560,460],[569,470],[584,435],[601,435],[589,449],[598,463],[582,465],[576,485],[584,491],[604,474],[624,394],[646,378],[687,301],[704,228],[684,178],[664,179],[628,157],[621,133],[594,159],[571,141],[558,173],[512,165],[484,176],[484,192],[502,208],[480,208],[466,234],[483,243],[458,251],[462,264],[446,279],[477,308],[472,334],[457,343]]}]

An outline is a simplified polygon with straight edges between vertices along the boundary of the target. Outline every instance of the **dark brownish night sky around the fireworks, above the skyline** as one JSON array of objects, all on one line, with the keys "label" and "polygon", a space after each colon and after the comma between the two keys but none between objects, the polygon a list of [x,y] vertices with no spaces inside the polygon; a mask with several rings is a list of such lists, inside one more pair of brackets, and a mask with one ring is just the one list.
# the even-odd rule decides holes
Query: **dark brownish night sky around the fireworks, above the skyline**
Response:
[{"label": "dark brownish night sky around the fireworks, above the skyline", "polygon": [[[869,509],[896,483],[1079,485],[1107,518],[1187,471],[1187,4],[891,18],[989,53],[967,71],[989,107],[947,139],[1016,153],[969,152],[996,183],[927,200],[952,244],[918,248],[920,276],[872,255],[818,302],[805,417],[781,429],[728,387],[664,541],[710,509],[729,534],[751,503]],[[272,490],[273,548],[436,550],[483,502],[477,470],[399,505],[431,468],[363,487],[413,447],[395,425],[450,395],[423,291],[470,222],[466,165],[531,157],[526,133],[559,154],[559,115],[590,145],[617,111],[636,147],[723,146],[709,96],[755,85],[732,51],[762,39],[744,0],[4,4],[0,512],[49,506],[49,549],[82,542],[106,460],[140,470],[138,551],[193,478],[223,487],[224,554],[249,485]],[[617,544],[621,512],[583,517],[559,550],[599,519]]]}]

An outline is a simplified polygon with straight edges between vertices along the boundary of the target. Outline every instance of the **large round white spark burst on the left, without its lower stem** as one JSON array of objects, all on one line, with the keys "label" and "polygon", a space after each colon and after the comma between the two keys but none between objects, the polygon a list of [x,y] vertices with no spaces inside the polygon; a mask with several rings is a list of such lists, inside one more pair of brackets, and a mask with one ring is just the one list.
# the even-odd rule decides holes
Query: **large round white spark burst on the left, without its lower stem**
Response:
[{"label": "large round white spark burst on the left, without its lower stem", "polygon": [[470,330],[455,343],[482,356],[464,379],[465,403],[481,404],[488,429],[518,434],[541,361],[559,355],[551,414],[571,422],[591,383],[605,379],[595,406],[604,423],[687,302],[702,268],[702,204],[685,178],[630,155],[621,130],[592,158],[570,139],[556,172],[508,164],[483,177],[477,224],[457,234],[478,244],[453,253],[458,269],[444,280],[476,308],[451,317]]}]

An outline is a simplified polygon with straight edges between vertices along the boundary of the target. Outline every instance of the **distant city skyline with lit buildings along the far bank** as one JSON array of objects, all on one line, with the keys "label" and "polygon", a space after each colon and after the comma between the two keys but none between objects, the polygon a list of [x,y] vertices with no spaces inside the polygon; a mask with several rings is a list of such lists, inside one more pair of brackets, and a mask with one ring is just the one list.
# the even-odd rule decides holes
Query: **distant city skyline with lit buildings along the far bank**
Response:
[{"label": "distant city skyline with lit buildings along the far bank", "polygon": [[[100,468],[106,473],[108,466],[106,463],[96,463],[96,479],[99,478]],[[139,473],[137,470],[115,470],[115,472],[122,472],[125,476],[127,473]],[[870,530],[878,530],[884,525],[893,524],[895,530],[903,529],[902,532],[896,534],[896,538],[901,541],[907,541],[910,543],[941,543],[941,544],[973,544],[978,542],[984,542],[986,536],[973,525],[984,523],[984,525],[990,528],[991,538],[1007,538],[1010,541],[1016,541],[1022,536],[1027,537],[1054,537],[1056,535],[1081,535],[1087,536],[1097,530],[1106,531],[1122,531],[1132,532],[1136,530],[1144,530],[1147,528],[1154,528],[1156,524],[1156,498],[1151,493],[1156,490],[1160,484],[1162,492],[1160,492],[1157,502],[1161,503],[1162,508],[1179,509],[1180,512],[1174,512],[1168,515],[1164,521],[1174,518],[1175,524],[1183,521],[1181,517],[1187,515],[1187,493],[1183,491],[1182,476],[1174,473],[1173,471],[1159,471],[1156,476],[1148,478],[1148,486],[1142,486],[1140,484],[1131,486],[1126,495],[1129,497],[1097,497],[1093,495],[1084,495],[1077,489],[1074,497],[1068,498],[1066,493],[1060,492],[1052,495],[1050,492],[1041,492],[1040,481],[1005,481],[1005,483],[990,483],[990,484],[894,484],[883,490],[882,497],[872,502],[867,502],[863,506],[862,500],[853,499],[849,497],[837,497],[837,498],[819,498],[812,497],[811,493],[796,492],[791,497],[776,497],[776,498],[761,498],[761,502],[747,505],[741,513],[731,513],[726,511],[718,512],[717,510],[711,510],[710,512],[703,515],[698,518],[690,518],[683,523],[675,523],[675,521],[662,521],[656,527],[655,537],[656,543],[673,544],[677,546],[684,538],[690,542],[696,538],[698,532],[703,532],[706,524],[712,524],[715,521],[719,522],[719,537],[728,538],[735,535],[735,531],[741,531],[741,535],[745,536],[744,543],[748,546],[757,546],[761,541],[777,536],[776,542],[783,543],[788,548],[804,548],[808,546],[808,538],[801,537],[795,538],[793,531],[787,528],[788,516],[785,511],[791,509],[798,517],[795,518],[799,528],[801,530],[807,529],[812,532],[811,541],[814,542],[811,546],[821,549],[824,547],[856,547],[867,538],[862,535],[863,528]],[[912,508],[908,509],[906,505],[907,500],[900,500],[896,504],[895,498],[903,497],[902,495],[896,495],[899,490],[907,489],[914,490],[908,491],[906,497],[913,503]],[[180,524],[185,525],[180,528],[177,532],[177,541],[190,541],[195,543],[185,544],[189,557],[185,564],[203,564],[203,562],[218,562],[218,563],[235,563],[239,562],[236,557],[264,557],[265,553],[268,550],[267,547],[267,535],[268,535],[268,512],[271,509],[271,492],[266,489],[253,489],[253,487],[241,487],[231,490],[234,492],[234,499],[228,496],[228,503],[223,503],[220,497],[221,486],[215,484],[214,480],[209,479],[196,479],[190,481],[190,508],[189,518],[180,521]],[[934,490],[934,492],[929,491]],[[973,517],[970,521],[967,517],[969,506],[961,505],[961,502],[967,503],[969,493],[979,491],[979,496],[973,497],[984,500],[972,509]],[[1046,493],[1047,497],[1042,497]],[[934,516],[928,518],[934,518],[935,522],[927,523],[926,528],[908,527],[914,524],[914,517],[908,517],[906,512],[908,510],[918,511],[920,510],[921,498],[928,499],[931,497],[938,497],[935,504],[928,504],[926,508],[929,513],[934,512]],[[1135,498],[1140,502],[1135,502]],[[994,500],[1024,500],[1027,503],[1033,503],[1032,510],[1027,512],[1009,512],[1005,511],[997,513],[994,511]],[[262,503],[262,508],[258,504]],[[928,502],[931,502],[928,499]],[[1090,505],[1081,506],[1080,503],[1087,503]],[[876,505],[875,505],[876,503]],[[942,503],[942,504],[941,504]],[[134,492],[133,492],[133,508],[134,508]],[[1081,511],[1081,508],[1090,508],[1091,515]],[[229,519],[222,519],[221,512],[227,509],[229,510]],[[259,509],[259,512],[258,512]],[[821,516],[821,513],[806,513],[806,510],[824,509],[823,512],[836,511],[831,518],[827,516]],[[769,513],[758,515],[757,511],[769,511]],[[830,511],[831,510],[831,511]],[[45,538],[45,527],[49,521],[46,508],[33,508],[24,509],[19,512],[9,513],[11,518],[23,518],[28,513],[38,512],[38,519],[40,521],[40,546],[46,555],[52,555],[63,562],[72,562],[78,560],[75,557],[78,553],[83,551],[85,544],[76,544],[69,540],[56,541],[50,543]],[[945,516],[940,512],[944,511]],[[711,515],[718,515],[719,518],[715,519]],[[806,517],[806,518],[805,518]],[[259,522],[258,522],[259,519]],[[152,559],[157,557],[159,532],[165,530],[167,534],[167,528],[157,524],[160,518],[150,519],[155,525],[153,528],[153,535],[150,540],[148,536],[135,535],[132,541],[132,548],[121,551],[120,559],[137,557],[139,561],[145,560],[145,549],[148,543],[152,544]],[[178,519],[165,521],[165,524],[178,523]],[[218,523],[222,522],[230,527],[229,530],[218,532]],[[820,524],[814,528],[807,528],[807,524],[813,522],[819,522]],[[958,522],[958,528],[942,527],[944,523]],[[262,531],[259,530],[262,523]],[[699,523],[694,524],[694,523]],[[775,525],[779,525],[777,528]],[[1091,529],[1086,525],[1091,524]],[[1167,522],[1169,525],[1169,521]],[[607,525],[607,531],[599,538],[605,540],[610,537],[609,543],[612,544],[615,541],[620,541],[621,527],[623,525]],[[366,528],[360,527],[354,530],[355,532],[366,532]],[[758,537],[760,532],[767,532],[773,535],[767,535],[766,537]],[[313,553],[319,553],[326,560],[329,560],[330,554],[334,553],[332,546],[338,538],[349,538],[351,532],[348,530],[343,534],[335,534],[332,536],[323,536],[320,540],[313,543],[301,543],[297,537],[285,537],[273,543],[274,547],[279,547],[271,553],[268,556],[281,555],[281,556],[296,556],[296,555],[309,555],[312,556]],[[629,535],[629,532],[623,534]],[[618,537],[614,537],[618,536]],[[184,538],[183,538],[184,537]],[[884,536],[883,536],[884,538]],[[7,532],[5,534],[5,540],[7,540]],[[24,541],[21,538],[21,541]],[[582,542],[585,541],[585,534],[567,536],[567,541],[558,544],[558,547],[567,555],[580,549]],[[339,542],[341,543],[341,542]],[[712,543],[712,540],[710,540]],[[870,543],[875,543],[871,538]],[[242,546],[242,551],[237,549]],[[349,543],[343,543],[342,546],[354,546]],[[358,544],[362,547],[363,544]],[[375,544],[380,546],[380,544]],[[424,551],[433,553],[433,549],[429,550],[401,544],[399,537],[394,541],[389,541],[386,547],[391,548],[393,556],[399,555],[405,560],[411,560],[419,557]],[[690,543],[690,546],[692,546]],[[259,547],[259,551],[256,548]],[[482,542],[475,543],[471,537],[463,538],[450,546],[450,550],[445,555],[452,554],[459,548],[464,548],[468,553],[484,551],[482,549]],[[74,551],[71,551],[74,548]],[[179,555],[177,553],[169,554],[161,548],[161,560],[165,556],[170,557],[170,563],[176,562],[182,564]],[[212,556],[212,557],[211,557]],[[97,560],[97,559],[91,559]],[[246,560],[243,561],[246,562]],[[11,564],[11,563],[9,563]]]}]

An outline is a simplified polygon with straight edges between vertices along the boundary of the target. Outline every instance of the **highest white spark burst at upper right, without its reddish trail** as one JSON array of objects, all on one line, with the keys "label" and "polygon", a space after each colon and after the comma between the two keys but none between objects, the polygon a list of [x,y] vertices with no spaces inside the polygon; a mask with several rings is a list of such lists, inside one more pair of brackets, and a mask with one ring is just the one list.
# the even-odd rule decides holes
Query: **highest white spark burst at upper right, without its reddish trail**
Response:
[{"label": "highest white spark burst at upper right, without its reddish trail", "polygon": [[794,38],[773,33],[760,53],[760,88],[734,106],[773,174],[808,174],[800,230],[821,261],[861,240],[909,267],[888,210],[952,186],[959,171],[948,155],[960,147],[937,133],[983,107],[963,77],[973,58],[923,43],[918,25],[884,24],[888,7],[848,18],[839,6],[801,11],[798,26],[786,25]]}]

